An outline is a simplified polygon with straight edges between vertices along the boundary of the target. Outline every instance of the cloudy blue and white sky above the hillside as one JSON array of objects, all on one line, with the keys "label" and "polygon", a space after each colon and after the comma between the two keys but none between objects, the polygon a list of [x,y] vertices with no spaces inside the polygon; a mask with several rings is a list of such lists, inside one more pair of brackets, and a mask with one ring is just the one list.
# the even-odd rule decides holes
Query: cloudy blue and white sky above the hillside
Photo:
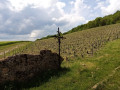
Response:
[{"label": "cloudy blue and white sky above the hillside", "polygon": [[34,41],[117,10],[120,0],[0,0],[0,41]]}]

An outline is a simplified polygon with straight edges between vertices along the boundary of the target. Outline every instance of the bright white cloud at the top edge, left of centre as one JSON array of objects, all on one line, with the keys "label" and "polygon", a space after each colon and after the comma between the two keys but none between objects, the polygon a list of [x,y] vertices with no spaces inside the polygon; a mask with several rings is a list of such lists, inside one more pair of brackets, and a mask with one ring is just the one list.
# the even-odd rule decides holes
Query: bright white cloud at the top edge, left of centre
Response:
[{"label": "bright white cloud at the top edge, left of centre", "polygon": [[49,8],[53,3],[57,0],[8,0],[11,5],[9,8],[12,11],[21,11],[27,6],[31,6],[32,8]]}]

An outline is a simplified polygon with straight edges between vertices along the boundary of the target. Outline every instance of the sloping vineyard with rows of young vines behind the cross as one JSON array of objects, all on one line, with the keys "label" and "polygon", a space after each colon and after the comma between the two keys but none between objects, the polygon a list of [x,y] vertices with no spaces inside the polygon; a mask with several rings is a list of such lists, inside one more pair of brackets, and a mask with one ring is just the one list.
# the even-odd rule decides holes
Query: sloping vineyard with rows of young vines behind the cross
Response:
[{"label": "sloping vineyard with rows of young vines behind the cross", "polygon": [[[120,38],[120,24],[74,32],[64,37],[66,39],[61,40],[61,56],[65,60],[92,56],[107,42]],[[58,52],[57,40],[55,38],[37,40],[26,47],[23,53],[39,54],[43,49]]]}]

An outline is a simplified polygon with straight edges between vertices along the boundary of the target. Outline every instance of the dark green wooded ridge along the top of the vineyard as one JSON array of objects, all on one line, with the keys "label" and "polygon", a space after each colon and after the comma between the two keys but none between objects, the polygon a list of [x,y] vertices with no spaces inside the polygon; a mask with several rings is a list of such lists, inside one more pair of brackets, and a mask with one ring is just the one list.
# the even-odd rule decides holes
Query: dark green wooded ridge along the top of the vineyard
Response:
[{"label": "dark green wooded ridge along the top of the vineyard", "polygon": [[117,11],[116,13],[108,16],[97,17],[95,20],[89,21],[88,23],[83,25],[79,25],[64,34],[117,23],[120,23],[120,11]]}]

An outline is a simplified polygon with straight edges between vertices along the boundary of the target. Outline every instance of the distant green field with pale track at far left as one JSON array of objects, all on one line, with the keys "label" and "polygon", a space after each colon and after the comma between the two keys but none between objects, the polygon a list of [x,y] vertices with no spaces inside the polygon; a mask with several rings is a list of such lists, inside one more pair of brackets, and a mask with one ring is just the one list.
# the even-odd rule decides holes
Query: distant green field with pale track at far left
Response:
[{"label": "distant green field with pale track at far left", "polygon": [[[28,45],[29,41],[0,41],[0,59],[12,56],[18,52],[18,49],[22,49],[24,46]],[[5,54],[5,56],[4,56]]]}]

